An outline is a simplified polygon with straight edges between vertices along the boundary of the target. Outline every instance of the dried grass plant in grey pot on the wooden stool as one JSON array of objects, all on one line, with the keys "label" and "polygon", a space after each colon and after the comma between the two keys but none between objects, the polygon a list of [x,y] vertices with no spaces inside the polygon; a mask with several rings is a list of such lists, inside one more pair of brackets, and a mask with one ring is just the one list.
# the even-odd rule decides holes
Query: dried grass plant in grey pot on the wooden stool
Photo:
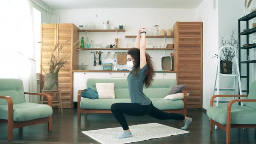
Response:
[{"label": "dried grass plant in grey pot on the wooden stool", "polygon": [[[69,40],[66,41],[66,43],[68,42]],[[77,40],[73,45],[73,49],[79,49],[79,47],[79,40]],[[43,90],[58,90],[58,73],[62,67],[65,68],[65,65],[68,64],[66,57],[70,54],[70,52],[62,52],[62,48],[63,46],[59,46],[58,43],[55,45],[49,62],[49,72],[45,72],[41,65],[43,72],[45,72]],[[59,53],[61,53],[61,55],[59,55]]]}]

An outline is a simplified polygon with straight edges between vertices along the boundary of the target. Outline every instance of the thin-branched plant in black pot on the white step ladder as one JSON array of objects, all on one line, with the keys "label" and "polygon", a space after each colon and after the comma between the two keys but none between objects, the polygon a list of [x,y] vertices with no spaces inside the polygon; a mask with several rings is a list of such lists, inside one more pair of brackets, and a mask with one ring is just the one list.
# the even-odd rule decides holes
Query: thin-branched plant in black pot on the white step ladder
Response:
[{"label": "thin-branched plant in black pot on the white step ladder", "polygon": [[222,49],[223,56],[220,56],[220,73],[222,74],[232,74],[233,69],[233,58],[235,57],[235,53],[238,48],[238,39],[235,39],[234,30],[230,34],[230,40],[224,39],[224,37],[220,40],[221,47],[222,46],[233,46],[235,49],[224,48]]}]

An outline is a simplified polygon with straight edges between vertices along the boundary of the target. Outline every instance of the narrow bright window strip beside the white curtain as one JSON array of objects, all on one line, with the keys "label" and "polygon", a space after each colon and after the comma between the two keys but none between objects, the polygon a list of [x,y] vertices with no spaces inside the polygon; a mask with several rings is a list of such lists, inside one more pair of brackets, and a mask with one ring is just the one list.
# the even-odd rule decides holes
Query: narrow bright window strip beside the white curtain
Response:
[{"label": "narrow bright window strip beside the white curtain", "polygon": [[41,44],[41,12],[33,8],[34,37],[35,37],[35,56],[36,56],[36,73],[40,73],[40,49]]}]

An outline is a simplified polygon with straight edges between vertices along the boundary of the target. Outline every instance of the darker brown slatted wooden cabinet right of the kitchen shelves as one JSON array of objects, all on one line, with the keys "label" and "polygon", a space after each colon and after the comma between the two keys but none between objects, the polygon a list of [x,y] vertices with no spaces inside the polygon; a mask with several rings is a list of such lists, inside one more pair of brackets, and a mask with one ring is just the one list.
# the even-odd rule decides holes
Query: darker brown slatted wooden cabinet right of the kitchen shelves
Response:
[{"label": "darker brown slatted wooden cabinet right of the kitchen shelves", "polygon": [[187,98],[187,108],[202,108],[202,26],[202,22],[177,22],[174,25],[174,48],[177,49],[177,80],[178,85],[186,84],[185,90],[190,93]]}]

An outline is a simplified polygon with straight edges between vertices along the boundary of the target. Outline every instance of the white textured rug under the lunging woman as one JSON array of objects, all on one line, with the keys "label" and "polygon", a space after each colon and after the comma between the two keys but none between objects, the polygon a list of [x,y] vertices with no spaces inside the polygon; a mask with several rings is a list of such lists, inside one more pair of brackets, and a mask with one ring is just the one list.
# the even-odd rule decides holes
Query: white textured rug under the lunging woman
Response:
[{"label": "white textured rug under the lunging woman", "polygon": [[189,131],[172,128],[158,123],[132,125],[129,126],[129,128],[131,130],[132,137],[121,139],[114,138],[114,136],[123,131],[122,127],[82,131],[82,133],[92,137],[102,144],[126,144],[136,141],[144,141],[154,138],[189,133]]}]

